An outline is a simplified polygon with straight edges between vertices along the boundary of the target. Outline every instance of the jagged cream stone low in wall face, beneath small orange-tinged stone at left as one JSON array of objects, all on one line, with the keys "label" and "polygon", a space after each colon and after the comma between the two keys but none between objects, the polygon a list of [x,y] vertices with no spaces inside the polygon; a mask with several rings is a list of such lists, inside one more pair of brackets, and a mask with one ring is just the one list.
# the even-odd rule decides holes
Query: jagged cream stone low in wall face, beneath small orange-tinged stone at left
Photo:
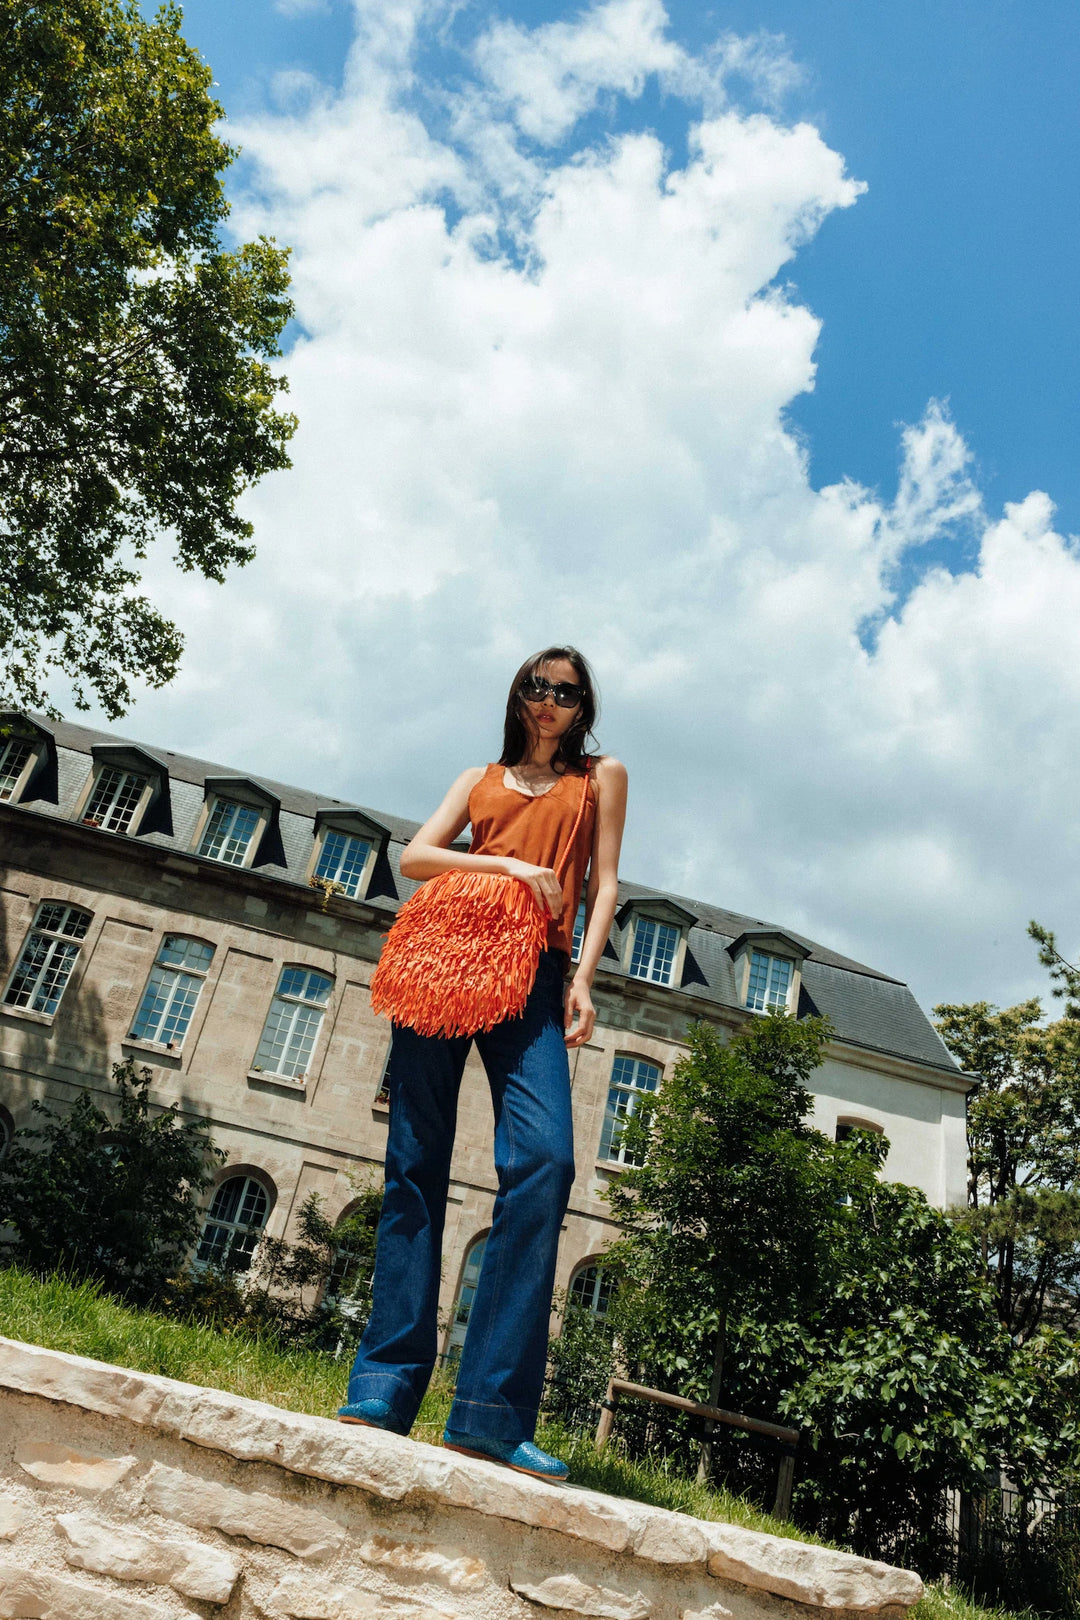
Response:
[{"label": "jagged cream stone low in wall face, beneath small orange-tinged stone at left", "polygon": [[240,1578],[240,1562],[199,1541],[167,1541],[125,1526],[115,1531],[84,1513],[62,1513],[57,1526],[68,1563],[120,1581],[157,1581],[204,1604],[227,1604]]}]

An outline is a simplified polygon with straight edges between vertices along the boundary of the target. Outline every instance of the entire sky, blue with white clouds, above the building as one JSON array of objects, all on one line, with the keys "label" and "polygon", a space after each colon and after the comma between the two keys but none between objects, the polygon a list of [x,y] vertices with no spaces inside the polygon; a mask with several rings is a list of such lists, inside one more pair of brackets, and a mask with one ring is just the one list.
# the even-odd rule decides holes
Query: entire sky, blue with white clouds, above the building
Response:
[{"label": "entire sky, blue with white clouds, above the building", "polygon": [[[424,816],[573,640],[628,876],[925,1004],[1080,953],[1075,5],[193,0],[293,468],[128,735]],[[1056,510],[1054,510],[1056,509]]]}]

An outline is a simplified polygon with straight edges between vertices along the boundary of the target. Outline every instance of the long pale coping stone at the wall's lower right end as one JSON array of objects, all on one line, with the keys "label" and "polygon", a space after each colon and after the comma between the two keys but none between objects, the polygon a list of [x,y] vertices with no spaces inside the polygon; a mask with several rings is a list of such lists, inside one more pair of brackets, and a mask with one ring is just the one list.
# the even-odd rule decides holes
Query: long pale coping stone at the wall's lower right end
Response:
[{"label": "long pale coping stone at the wall's lower right end", "polygon": [[708,1524],[706,1536],[711,1575],[814,1609],[873,1614],[894,1604],[907,1609],[923,1596],[913,1571],[850,1552],[764,1536],[742,1524]]}]

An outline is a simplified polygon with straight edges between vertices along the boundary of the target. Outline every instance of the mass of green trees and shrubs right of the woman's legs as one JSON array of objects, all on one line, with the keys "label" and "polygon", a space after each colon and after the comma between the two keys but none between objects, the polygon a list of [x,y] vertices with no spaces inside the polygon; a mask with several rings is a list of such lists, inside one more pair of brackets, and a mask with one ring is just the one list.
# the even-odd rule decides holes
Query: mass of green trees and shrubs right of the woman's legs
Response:
[{"label": "mass of green trees and shrubs right of the woman's legs", "polygon": [[[938,1571],[949,1489],[981,1492],[1001,1471],[1031,1490],[1070,1479],[1074,1346],[1010,1340],[975,1234],[879,1178],[887,1142],[836,1144],[806,1124],[824,1034],[784,1016],[729,1045],[690,1032],[623,1136],[641,1163],[609,1194],[627,1231],[609,1251],[610,1322],[586,1351],[602,1362],[614,1328],[607,1367],[706,1400],[725,1315],[721,1405],[801,1430],[797,1521]],[[560,1379],[572,1387],[570,1366]],[[619,1432],[648,1447],[657,1419],[620,1414]],[[685,1421],[662,1445],[693,1466]],[[776,1460],[735,1430],[712,1445],[714,1471],[767,1502]]]}]

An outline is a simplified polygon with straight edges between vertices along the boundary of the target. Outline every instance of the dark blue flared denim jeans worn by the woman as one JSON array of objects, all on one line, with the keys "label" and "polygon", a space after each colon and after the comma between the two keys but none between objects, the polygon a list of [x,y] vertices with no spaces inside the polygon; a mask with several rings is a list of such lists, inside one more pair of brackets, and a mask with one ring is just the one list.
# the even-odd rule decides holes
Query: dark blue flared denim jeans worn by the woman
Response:
[{"label": "dark blue flared denim jeans worn by the woman", "polygon": [[474,1040],[495,1113],[499,1192],[447,1427],[508,1445],[533,1439],[559,1231],[573,1184],[565,964],[560,951],[541,953],[521,1014],[487,1035],[444,1040],[393,1027],[374,1299],[348,1400],[385,1401],[400,1434],[411,1429],[436,1364],[450,1155]]}]

